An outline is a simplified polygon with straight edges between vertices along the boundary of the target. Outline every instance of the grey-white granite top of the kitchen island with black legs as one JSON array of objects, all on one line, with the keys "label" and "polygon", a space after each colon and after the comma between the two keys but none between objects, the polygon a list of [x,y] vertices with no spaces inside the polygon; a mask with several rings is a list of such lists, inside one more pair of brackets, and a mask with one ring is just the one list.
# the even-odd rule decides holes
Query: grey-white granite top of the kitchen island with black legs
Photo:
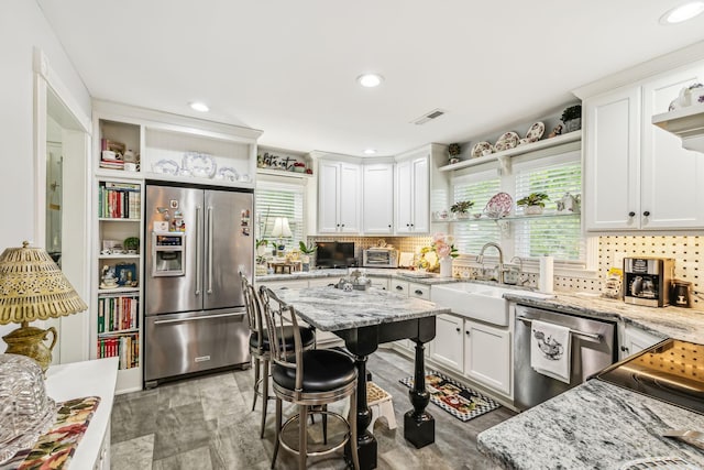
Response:
[{"label": "grey-white granite top of the kitchen island with black legs", "polygon": [[[449,308],[420,298],[370,288],[344,292],[330,286],[304,289],[272,288],[284,303],[322,331],[337,331],[369,325],[447,314]],[[334,311],[334,315],[331,314]]]}]

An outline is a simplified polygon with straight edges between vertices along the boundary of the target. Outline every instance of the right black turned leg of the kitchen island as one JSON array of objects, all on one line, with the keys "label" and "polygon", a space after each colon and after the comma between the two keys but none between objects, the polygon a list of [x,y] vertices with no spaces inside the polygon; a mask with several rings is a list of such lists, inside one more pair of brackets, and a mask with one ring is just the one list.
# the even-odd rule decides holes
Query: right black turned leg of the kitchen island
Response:
[{"label": "right black turned leg of the kitchen island", "polygon": [[436,419],[426,412],[430,403],[430,393],[426,389],[426,348],[420,339],[414,338],[413,341],[416,343],[416,369],[414,386],[408,395],[414,409],[404,415],[404,437],[419,449],[436,441]]}]

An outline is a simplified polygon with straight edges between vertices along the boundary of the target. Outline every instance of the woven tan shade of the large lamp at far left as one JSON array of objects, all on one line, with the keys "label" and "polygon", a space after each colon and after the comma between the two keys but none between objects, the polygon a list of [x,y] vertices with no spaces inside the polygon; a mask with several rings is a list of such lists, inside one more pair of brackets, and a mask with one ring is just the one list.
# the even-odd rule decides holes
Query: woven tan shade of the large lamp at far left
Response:
[{"label": "woven tan shade of the large lamp at far left", "polygon": [[0,255],[0,325],[45,320],[88,309],[41,248],[8,248]]}]

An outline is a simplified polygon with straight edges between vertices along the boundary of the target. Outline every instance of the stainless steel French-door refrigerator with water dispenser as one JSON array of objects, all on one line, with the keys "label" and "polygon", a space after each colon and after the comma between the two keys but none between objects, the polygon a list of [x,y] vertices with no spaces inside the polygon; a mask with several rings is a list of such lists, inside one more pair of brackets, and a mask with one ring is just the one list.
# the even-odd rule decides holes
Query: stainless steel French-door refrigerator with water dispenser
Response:
[{"label": "stainless steel French-door refrigerator with water dispenser", "polygon": [[251,190],[146,182],[144,382],[250,362]]}]

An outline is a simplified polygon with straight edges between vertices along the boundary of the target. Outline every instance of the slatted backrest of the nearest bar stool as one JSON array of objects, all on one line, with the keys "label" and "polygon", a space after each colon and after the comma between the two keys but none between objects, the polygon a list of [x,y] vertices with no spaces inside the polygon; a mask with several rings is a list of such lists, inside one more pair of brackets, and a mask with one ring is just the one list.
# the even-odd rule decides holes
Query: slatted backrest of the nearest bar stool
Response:
[{"label": "slatted backrest of the nearest bar stool", "polygon": [[[272,361],[289,369],[296,369],[296,391],[302,390],[304,347],[300,339],[300,328],[296,318],[296,309],[286,305],[268,287],[260,289],[263,317],[268,331],[268,342]],[[293,334],[294,345],[286,340],[286,332]]]}]

